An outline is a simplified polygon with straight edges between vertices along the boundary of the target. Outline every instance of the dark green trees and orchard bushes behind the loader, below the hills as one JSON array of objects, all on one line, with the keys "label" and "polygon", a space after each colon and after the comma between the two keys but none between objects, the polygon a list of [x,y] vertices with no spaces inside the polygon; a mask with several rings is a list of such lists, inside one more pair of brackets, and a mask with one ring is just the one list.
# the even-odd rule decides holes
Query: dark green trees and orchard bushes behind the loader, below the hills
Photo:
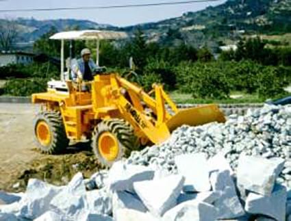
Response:
[{"label": "dark green trees and orchard bushes behind the loader, below the hills", "polygon": [[[73,47],[75,54],[82,47],[94,51],[90,42],[78,44]],[[51,44],[46,36],[35,43],[35,50],[43,49],[58,56],[58,45]],[[264,101],[287,95],[283,88],[291,81],[291,48],[268,48],[260,38],[240,41],[237,51],[221,53],[218,60],[206,47],[147,44],[142,31],[136,31],[133,40],[121,45],[101,42],[100,51],[100,64],[123,76],[129,73],[129,57],[134,57],[138,77],[131,75],[129,80],[136,81],[144,90],[151,90],[153,83],[162,83],[168,92],[190,94],[194,99],[229,99],[231,92],[236,91],[253,94]],[[0,68],[0,73],[6,74],[3,78],[18,78],[5,83],[5,94],[27,96],[45,91],[46,81],[51,77],[58,78],[58,68],[49,63],[3,68]]]}]

